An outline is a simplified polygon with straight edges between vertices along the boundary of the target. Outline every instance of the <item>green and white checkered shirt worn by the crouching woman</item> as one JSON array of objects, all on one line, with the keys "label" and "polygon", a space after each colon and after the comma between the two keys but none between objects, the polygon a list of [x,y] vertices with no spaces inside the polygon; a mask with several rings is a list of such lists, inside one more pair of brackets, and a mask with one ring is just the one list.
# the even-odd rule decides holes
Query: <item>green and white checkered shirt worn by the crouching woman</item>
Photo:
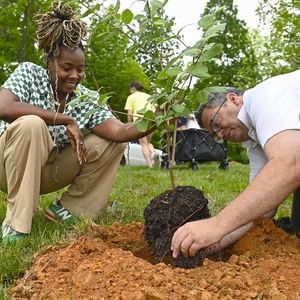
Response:
[{"label": "green and white checkered shirt worn by the crouching woman", "polygon": [[[53,111],[53,103],[49,94],[48,86],[49,81],[46,70],[36,64],[25,62],[19,64],[2,87],[13,92],[22,102],[27,102],[45,110]],[[78,91],[79,95],[85,95],[92,92],[82,85],[78,85]],[[72,96],[72,99],[75,97],[76,96]],[[89,101],[86,101],[80,107],[69,105],[64,110],[65,115],[69,115],[76,120],[83,133],[91,131],[93,127],[109,118],[115,118],[107,105],[104,105],[102,108],[97,105],[98,98],[98,94],[95,96],[89,96]],[[87,113],[94,109],[96,109],[95,112],[86,117]],[[5,131],[7,126],[8,123],[1,122],[0,132]],[[64,125],[49,125],[48,129],[53,141],[59,148],[62,148],[64,145],[69,143],[67,130]]]}]

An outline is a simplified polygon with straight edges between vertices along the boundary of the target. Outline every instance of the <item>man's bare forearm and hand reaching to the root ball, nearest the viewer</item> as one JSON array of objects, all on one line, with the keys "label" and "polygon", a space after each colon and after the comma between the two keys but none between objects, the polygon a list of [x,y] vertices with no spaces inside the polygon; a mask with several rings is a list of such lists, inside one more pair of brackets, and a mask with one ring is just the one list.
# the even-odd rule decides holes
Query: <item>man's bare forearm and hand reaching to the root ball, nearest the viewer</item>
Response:
[{"label": "man's bare forearm and hand reaching to the root ball, nearest the viewer", "polygon": [[265,145],[268,163],[248,187],[216,216],[180,227],[171,244],[173,256],[180,250],[195,255],[220,242],[226,235],[276,209],[300,185],[300,131],[286,130]]}]

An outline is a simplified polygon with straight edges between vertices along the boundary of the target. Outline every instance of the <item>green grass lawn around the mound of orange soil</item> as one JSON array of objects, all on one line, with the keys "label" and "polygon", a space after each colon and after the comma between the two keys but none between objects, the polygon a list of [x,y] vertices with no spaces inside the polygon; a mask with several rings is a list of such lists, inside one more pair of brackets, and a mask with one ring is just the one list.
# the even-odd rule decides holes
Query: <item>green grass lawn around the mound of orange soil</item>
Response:
[{"label": "green grass lawn around the mound of orange soil", "polygon": [[[249,166],[231,164],[229,169],[219,169],[218,162],[198,164],[198,170],[188,169],[188,164],[176,166],[175,185],[190,185],[202,190],[209,200],[211,215],[216,214],[238,196],[247,186]],[[143,211],[152,198],[171,188],[169,171],[146,166],[120,166],[108,205],[96,223],[110,225],[133,221],[143,222]],[[29,269],[37,253],[47,245],[67,245],[70,239],[84,234],[88,220],[80,220],[75,226],[56,224],[44,216],[45,208],[59,197],[63,190],[40,197],[39,209],[34,215],[29,238],[20,244],[0,243],[0,299],[9,299],[7,290],[14,280]],[[6,211],[6,195],[0,194],[0,222]],[[291,196],[280,206],[275,218],[289,216]]]}]

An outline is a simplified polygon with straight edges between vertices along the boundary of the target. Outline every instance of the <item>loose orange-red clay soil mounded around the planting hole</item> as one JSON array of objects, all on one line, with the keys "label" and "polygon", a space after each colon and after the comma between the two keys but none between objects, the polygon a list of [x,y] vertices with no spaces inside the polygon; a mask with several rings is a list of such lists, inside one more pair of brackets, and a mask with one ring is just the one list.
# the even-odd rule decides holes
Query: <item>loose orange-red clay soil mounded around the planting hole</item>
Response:
[{"label": "loose orange-red clay soil mounded around the planting hole", "polygon": [[95,225],[66,248],[48,247],[11,299],[300,299],[300,240],[259,219],[226,252],[194,269],[151,263],[144,224]]}]

